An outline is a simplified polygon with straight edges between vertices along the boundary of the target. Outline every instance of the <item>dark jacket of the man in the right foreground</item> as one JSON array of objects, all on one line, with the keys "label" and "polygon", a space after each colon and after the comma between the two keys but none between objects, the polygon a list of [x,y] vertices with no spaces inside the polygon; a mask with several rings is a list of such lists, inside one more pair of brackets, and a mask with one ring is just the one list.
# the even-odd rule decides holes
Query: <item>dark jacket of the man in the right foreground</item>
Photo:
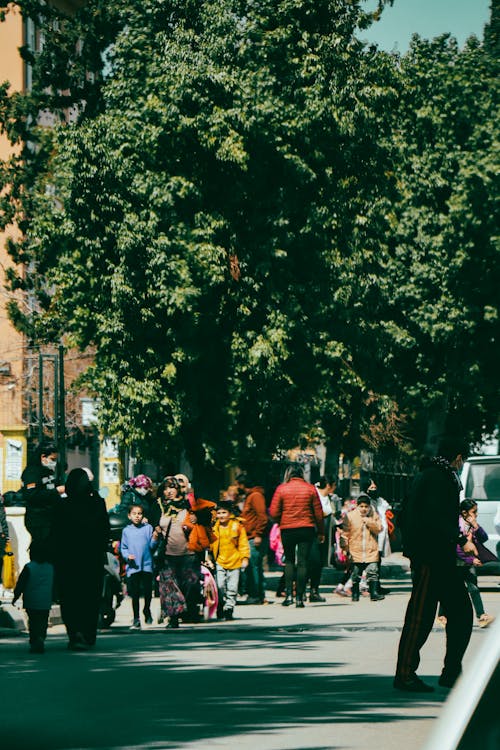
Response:
[{"label": "dark jacket of the man in the right foreground", "polygon": [[451,468],[429,463],[420,471],[403,506],[403,554],[413,563],[454,565],[459,533],[460,483]]}]

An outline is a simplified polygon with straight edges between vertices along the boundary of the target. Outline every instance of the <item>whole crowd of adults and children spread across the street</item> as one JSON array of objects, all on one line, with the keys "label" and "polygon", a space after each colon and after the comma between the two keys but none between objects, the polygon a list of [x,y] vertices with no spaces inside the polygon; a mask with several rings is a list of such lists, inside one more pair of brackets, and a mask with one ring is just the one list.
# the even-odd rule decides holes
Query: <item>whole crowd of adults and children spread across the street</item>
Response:
[{"label": "whole crowd of adults and children spread across the street", "polygon": [[[459,674],[470,637],[468,594],[480,626],[493,619],[484,612],[475,578],[487,538],[477,523],[477,506],[465,500],[459,517],[454,512],[457,462],[448,454],[424,467],[402,518],[414,586],[394,684],[409,692],[428,689],[416,669],[438,602],[448,638],[441,677],[445,685]],[[321,477],[313,485],[300,464],[290,464],[268,504],[263,488],[244,474],[215,501],[197,497],[184,474],[166,476],[157,486],[140,474],[126,482],[121,502],[108,512],[89,469],[72,469],[58,484],[56,465],[55,447],[40,446],[22,476],[25,524],[32,541],[14,601],[23,597],[32,653],[44,651],[54,598],[60,602],[68,648],[86,651],[95,644],[110,517],[123,521],[118,551],[132,603],[132,630],[153,624],[155,593],[160,600],[157,622],[169,629],[207,616],[232,620],[238,601],[265,604],[266,557],[283,567],[276,595],[284,607],[303,608],[308,592],[310,602],[325,601],[320,582],[329,555],[336,567],[343,567],[335,593],[357,602],[363,581],[371,601],[381,601],[388,593],[380,584],[380,566],[390,554],[393,514],[371,478],[362,480],[356,497],[343,500],[336,494],[335,477]],[[419,534],[419,523],[422,508],[433,499],[438,502],[436,493],[442,509],[435,535],[442,538],[431,549],[428,538]],[[0,533],[4,543],[5,524]]]}]

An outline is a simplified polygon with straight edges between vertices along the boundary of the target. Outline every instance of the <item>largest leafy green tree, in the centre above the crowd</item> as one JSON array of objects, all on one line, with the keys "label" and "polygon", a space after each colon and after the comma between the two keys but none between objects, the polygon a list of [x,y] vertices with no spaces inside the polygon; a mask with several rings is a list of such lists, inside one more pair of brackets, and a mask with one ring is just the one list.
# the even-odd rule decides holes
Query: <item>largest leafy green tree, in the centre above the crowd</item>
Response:
[{"label": "largest leafy green tree, in the centre above the crowd", "polygon": [[365,386],[337,320],[383,223],[394,97],[354,36],[368,15],[145,0],[126,18],[99,108],[54,131],[30,324],[96,346],[102,426],[149,455],[221,466],[341,437]]}]

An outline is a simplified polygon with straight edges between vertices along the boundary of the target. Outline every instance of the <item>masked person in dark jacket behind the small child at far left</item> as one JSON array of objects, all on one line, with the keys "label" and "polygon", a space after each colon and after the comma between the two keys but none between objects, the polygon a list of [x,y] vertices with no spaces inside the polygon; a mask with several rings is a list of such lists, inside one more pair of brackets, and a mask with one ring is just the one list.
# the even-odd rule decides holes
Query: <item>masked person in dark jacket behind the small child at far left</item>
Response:
[{"label": "masked person in dark jacket behind the small child at far left", "polygon": [[32,539],[49,544],[64,492],[64,487],[56,487],[56,467],[57,449],[51,444],[42,444],[21,475],[21,492],[26,505],[24,525]]}]

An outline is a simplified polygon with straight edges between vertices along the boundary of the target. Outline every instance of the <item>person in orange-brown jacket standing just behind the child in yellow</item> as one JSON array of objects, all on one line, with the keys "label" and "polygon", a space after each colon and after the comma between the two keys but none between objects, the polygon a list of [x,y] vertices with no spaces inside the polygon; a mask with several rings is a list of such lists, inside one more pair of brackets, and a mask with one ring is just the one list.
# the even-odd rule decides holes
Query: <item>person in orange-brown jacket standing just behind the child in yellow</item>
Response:
[{"label": "person in orange-brown jacket standing just behind the child in yellow", "polygon": [[248,487],[251,484],[245,475],[236,477],[238,486],[245,492],[241,518],[245,524],[250,545],[250,561],[246,569],[247,604],[265,603],[263,560],[267,551],[269,516],[263,487]]}]

